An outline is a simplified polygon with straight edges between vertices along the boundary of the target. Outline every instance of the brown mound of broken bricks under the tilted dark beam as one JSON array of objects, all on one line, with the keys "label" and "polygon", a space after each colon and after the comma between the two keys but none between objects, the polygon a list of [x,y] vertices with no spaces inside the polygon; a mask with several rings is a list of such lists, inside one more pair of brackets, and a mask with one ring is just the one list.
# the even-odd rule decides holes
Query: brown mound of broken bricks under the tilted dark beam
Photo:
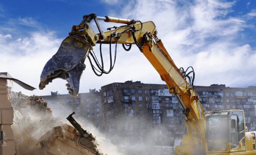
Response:
[{"label": "brown mound of broken bricks under the tilted dark beam", "polygon": [[[49,137],[45,139],[44,137]],[[70,153],[70,154],[100,154],[97,145],[94,144],[95,138],[89,134],[88,137],[80,136],[73,126],[65,124],[56,126],[53,130],[42,136],[38,145],[39,150],[47,151],[51,154]],[[69,147],[66,147],[68,144]]]}]

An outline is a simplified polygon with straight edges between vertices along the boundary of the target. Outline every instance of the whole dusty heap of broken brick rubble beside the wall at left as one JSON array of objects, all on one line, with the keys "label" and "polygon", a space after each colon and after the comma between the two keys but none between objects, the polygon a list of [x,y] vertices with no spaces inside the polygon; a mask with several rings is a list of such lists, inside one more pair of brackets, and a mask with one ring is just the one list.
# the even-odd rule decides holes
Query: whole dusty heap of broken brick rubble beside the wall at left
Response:
[{"label": "whole dusty heap of broken brick rubble beside the wall at left", "polygon": [[43,98],[11,92],[10,99],[17,154],[100,154],[92,134],[80,136],[73,126],[54,118]]}]

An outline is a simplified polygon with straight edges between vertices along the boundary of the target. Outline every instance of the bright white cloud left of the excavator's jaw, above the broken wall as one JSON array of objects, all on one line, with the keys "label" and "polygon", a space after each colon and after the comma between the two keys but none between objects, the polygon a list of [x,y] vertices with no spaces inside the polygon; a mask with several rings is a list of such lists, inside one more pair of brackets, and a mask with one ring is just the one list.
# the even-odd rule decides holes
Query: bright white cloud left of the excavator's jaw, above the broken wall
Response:
[{"label": "bright white cloud left of the excavator's jaw, above the broken wall", "polygon": [[[9,72],[33,87],[37,87],[44,64],[59,48],[61,39],[55,37],[53,32],[35,32],[26,38],[12,39],[11,35],[1,37],[0,34],[0,71]],[[39,90],[30,92],[14,85],[16,91],[27,94],[46,93]],[[49,91],[49,90],[48,90]],[[50,92],[47,92],[48,94]]]}]

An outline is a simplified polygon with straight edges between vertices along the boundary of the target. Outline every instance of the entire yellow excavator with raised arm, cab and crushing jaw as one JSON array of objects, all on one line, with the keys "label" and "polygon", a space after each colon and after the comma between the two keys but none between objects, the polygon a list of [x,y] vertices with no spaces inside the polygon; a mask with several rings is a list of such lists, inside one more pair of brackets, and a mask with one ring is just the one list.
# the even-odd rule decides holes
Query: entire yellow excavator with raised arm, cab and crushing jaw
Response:
[{"label": "entire yellow excavator with raised arm, cab and crushing jaw", "polygon": [[[103,32],[99,20],[119,23],[119,26]],[[92,21],[94,24],[91,24]],[[91,25],[96,25],[99,32],[93,31]],[[100,44],[100,62],[93,52],[97,44]],[[110,67],[107,71],[103,68],[102,44],[109,44],[110,47]],[[77,96],[85,60],[89,59],[92,70],[98,76],[108,74],[116,58],[116,50],[112,58],[111,45],[117,44],[122,44],[125,50],[130,50],[135,44],[166,82],[170,93],[177,97],[186,118],[187,135],[175,147],[175,154],[256,154],[255,132],[246,131],[244,111],[206,113],[193,88],[193,68],[184,70],[174,64],[162,41],[157,38],[156,26],[152,21],[84,15],[82,22],[73,26],[57,53],[44,66],[39,89],[43,89],[53,79],[61,78],[67,80],[69,94]]]}]

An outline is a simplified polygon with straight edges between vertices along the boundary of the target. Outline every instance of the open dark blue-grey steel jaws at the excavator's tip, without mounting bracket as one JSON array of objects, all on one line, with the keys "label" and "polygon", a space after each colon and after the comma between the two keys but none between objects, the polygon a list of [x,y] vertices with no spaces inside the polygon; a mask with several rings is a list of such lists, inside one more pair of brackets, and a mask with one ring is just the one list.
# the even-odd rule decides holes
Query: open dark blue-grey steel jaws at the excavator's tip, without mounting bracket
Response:
[{"label": "open dark blue-grey steel jaws at the excavator's tip, without mounting bracket", "polygon": [[78,36],[68,36],[64,39],[57,53],[45,64],[39,89],[44,89],[53,79],[61,78],[68,82],[68,93],[77,96],[79,80],[85,69],[84,59],[89,53],[89,48],[90,45]]}]

